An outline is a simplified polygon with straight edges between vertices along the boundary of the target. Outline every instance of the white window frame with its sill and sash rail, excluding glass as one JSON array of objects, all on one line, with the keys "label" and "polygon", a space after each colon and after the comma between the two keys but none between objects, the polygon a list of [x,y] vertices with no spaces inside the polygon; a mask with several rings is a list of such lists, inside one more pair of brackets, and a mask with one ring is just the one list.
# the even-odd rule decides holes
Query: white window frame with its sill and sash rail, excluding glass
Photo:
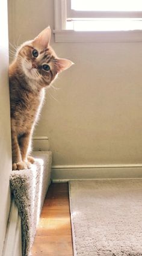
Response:
[{"label": "white window frame with its sill and sash rail, excluding glass", "polygon": [[[74,31],[66,30],[66,19],[82,17],[82,11],[74,11],[67,8],[70,0],[54,0],[55,9],[55,42],[142,42],[142,30],[134,31]],[[126,17],[125,12],[96,12],[96,17]],[[84,17],[94,17],[94,11],[85,11]],[[142,12],[129,12],[129,17],[142,17]]]}]

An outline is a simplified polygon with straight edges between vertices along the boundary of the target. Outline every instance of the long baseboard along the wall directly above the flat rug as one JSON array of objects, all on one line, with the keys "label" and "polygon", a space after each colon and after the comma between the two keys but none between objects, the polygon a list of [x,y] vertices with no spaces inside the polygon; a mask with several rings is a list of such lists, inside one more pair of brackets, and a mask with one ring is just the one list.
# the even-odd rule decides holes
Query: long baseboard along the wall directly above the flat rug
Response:
[{"label": "long baseboard along the wall directly above the flat rug", "polygon": [[142,164],[52,166],[54,183],[70,180],[142,178]]}]

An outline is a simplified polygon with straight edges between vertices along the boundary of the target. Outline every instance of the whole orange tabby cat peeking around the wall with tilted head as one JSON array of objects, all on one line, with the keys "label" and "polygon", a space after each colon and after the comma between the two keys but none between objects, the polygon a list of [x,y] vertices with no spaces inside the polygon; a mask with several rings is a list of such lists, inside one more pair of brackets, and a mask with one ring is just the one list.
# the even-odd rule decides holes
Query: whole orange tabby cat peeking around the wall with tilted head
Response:
[{"label": "whole orange tabby cat peeking around the wall with tilted head", "polygon": [[51,28],[23,43],[9,67],[11,146],[13,170],[31,167],[32,133],[45,96],[58,73],[72,66],[72,61],[58,58],[49,45]]}]

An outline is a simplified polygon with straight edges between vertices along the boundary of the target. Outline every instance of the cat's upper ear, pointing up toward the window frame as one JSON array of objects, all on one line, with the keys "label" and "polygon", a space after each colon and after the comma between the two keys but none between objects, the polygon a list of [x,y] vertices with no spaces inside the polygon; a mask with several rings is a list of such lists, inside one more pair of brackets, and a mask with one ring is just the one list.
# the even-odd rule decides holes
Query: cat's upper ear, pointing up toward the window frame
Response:
[{"label": "cat's upper ear, pointing up toward the window frame", "polygon": [[51,28],[45,28],[40,34],[33,40],[34,43],[40,45],[42,48],[48,48],[51,39]]}]

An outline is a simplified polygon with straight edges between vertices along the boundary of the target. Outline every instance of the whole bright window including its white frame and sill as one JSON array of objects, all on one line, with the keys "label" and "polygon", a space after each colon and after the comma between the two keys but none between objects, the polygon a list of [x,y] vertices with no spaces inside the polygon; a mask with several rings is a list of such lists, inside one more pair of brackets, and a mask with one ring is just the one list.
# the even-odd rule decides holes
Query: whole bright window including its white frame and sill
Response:
[{"label": "whole bright window including its white frame and sill", "polygon": [[55,0],[56,42],[141,42],[141,0]]}]

